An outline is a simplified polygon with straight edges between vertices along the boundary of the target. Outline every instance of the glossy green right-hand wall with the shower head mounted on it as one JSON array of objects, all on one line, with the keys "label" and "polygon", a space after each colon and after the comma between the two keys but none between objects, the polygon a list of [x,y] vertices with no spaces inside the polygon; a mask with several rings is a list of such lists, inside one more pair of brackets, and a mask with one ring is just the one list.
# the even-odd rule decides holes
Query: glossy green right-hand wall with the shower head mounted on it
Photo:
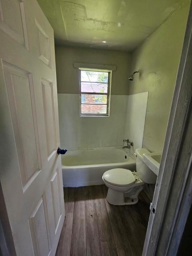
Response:
[{"label": "glossy green right-hand wall with the shower head mounted on it", "polygon": [[149,92],[143,147],[152,152],[162,150],[166,134],[190,6],[184,3],[132,53],[131,70],[140,72],[129,94]]}]

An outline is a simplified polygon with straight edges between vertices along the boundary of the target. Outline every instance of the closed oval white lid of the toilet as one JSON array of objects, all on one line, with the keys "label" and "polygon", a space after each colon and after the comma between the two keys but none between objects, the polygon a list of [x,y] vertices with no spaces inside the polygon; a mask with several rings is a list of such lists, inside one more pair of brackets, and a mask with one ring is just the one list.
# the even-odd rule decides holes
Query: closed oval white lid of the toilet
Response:
[{"label": "closed oval white lid of the toilet", "polygon": [[135,182],[135,176],[130,170],[115,168],[103,174],[106,182],[116,186],[129,186]]}]

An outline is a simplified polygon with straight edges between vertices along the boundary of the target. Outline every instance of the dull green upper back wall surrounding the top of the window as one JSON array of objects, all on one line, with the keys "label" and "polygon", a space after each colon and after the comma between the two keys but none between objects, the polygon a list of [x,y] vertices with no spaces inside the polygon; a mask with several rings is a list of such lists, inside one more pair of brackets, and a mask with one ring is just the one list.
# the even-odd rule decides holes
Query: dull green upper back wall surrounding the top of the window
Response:
[{"label": "dull green upper back wall surrounding the top of the window", "polygon": [[128,52],[56,46],[56,72],[58,93],[78,94],[78,68],[74,62],[94,64],[114,64],[112,71],[112,95],[128,94],[128,75],[130,73],[130,54]]}]

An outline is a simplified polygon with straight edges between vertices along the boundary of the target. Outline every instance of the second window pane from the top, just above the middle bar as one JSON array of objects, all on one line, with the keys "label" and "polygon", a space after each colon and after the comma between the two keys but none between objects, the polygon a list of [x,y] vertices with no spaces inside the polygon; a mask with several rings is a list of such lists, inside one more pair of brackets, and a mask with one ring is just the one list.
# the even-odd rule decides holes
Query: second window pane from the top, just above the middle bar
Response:
[{"label": "second window pane from the top, just above the middle bar", "polygon": [[107,93],[108,84],[100,83],[84,83],[81,82],[81,91],[82,92],[102,92]]}]

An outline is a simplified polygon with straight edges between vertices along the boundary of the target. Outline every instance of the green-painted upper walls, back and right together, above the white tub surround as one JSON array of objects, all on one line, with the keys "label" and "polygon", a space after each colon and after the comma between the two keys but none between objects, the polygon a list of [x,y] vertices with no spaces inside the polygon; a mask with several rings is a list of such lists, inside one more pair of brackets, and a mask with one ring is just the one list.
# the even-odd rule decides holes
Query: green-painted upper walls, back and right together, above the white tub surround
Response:
[{"label": "green-painted upper walls, back and right together, above the white tub surround", "polygon": [[[74,62],[114,64],[112,95],[149,92],[143,147],[161,151],[184,40],[190,1],[185,0],[161,26],[132,52],[56,46],[58,93],[78,94]],[[134,81],[128,77],[136,70]],[[137,117],[136,117],[137,118]]]}]

